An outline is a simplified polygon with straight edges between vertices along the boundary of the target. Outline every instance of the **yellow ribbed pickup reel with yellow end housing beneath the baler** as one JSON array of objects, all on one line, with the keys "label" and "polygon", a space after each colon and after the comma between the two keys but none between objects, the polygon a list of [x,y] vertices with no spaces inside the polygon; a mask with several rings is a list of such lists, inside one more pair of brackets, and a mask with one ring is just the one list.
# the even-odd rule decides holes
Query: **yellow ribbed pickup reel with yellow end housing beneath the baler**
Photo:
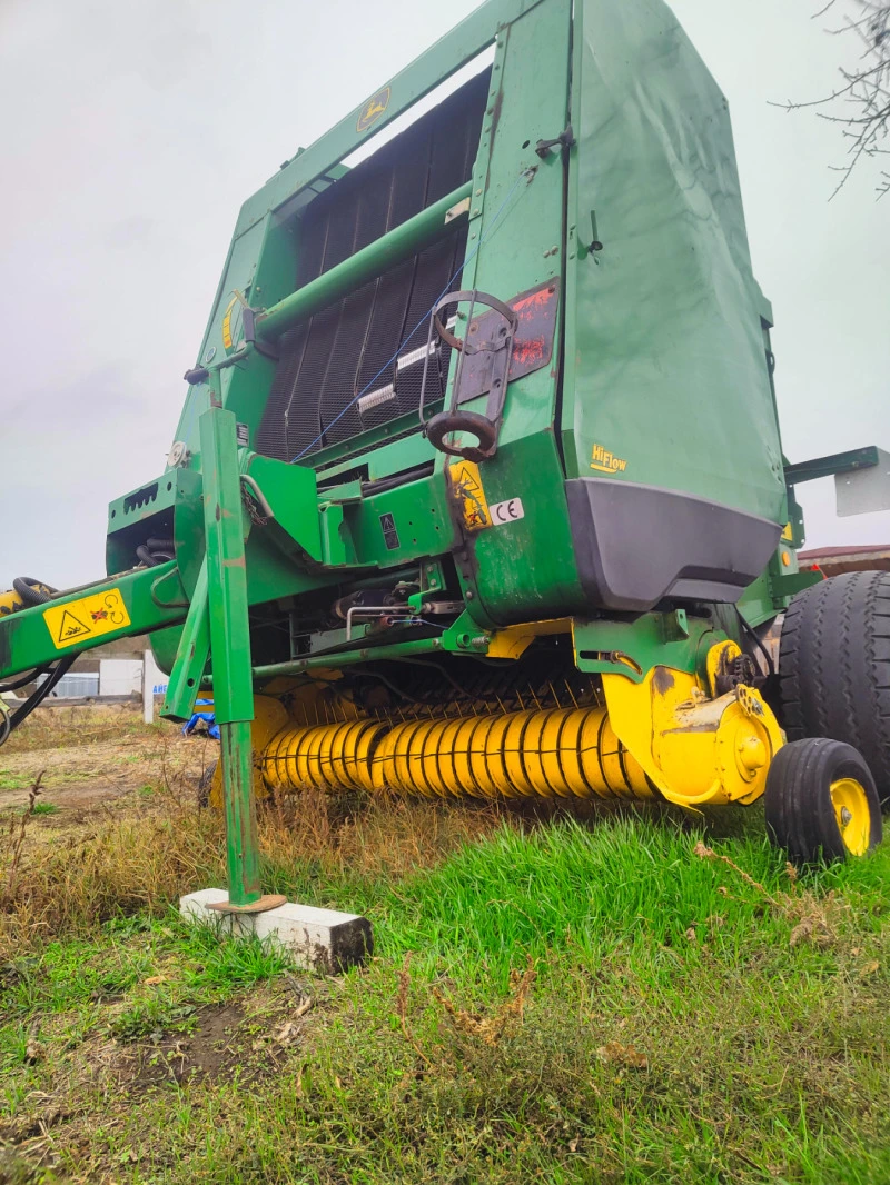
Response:
[{"label": "yellow ribbed pickup reel with yellow end housing beneath the baler", "polygon": [[[720,642],[708,670],[740,651]],[[708,694],[654,667],[642,683],[602,679],[605,704],[514,712],[352,716],[281,729],[260,756],[265,786],[426,798],[651,799],[754,802],[782,732],[758,691]]]}]

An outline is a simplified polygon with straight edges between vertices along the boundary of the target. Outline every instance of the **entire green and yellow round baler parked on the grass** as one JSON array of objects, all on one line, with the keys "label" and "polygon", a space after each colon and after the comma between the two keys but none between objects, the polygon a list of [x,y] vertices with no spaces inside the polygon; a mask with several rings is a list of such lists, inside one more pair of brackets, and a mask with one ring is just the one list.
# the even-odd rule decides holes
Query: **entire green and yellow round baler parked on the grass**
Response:
[{"label": "entire green and yellow round baler parked on the grass", "polygon": [[878,450],[784,462],[771,325],[669,9],[489,0],[244,204],[115,575],[11,595],[0,672],[151,632],[165,716],[212,686],[233,908],[271,789],[765,794],[862,856],[890,578],[801,571],[794,483]]}]

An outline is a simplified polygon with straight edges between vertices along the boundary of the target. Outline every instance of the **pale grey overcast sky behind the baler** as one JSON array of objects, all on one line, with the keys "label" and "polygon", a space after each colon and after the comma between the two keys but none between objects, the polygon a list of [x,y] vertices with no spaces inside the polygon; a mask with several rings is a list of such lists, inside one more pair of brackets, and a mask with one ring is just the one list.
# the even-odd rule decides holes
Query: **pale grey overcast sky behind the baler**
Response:
[{"label": "pale grey overcast sky behind the baler", "polygon": [[[0,0],[0,588],[103,575],[107,504],[163,472],[242,200],[475,7]],[[768,105],[825,94],[852,46],[815,0],[673,7],[730,101],[786,451],[890,449],[890,198],[863,169],[828,203],[839,133]],[[809,545],[890,543],[890,513],[801,493]]]}]

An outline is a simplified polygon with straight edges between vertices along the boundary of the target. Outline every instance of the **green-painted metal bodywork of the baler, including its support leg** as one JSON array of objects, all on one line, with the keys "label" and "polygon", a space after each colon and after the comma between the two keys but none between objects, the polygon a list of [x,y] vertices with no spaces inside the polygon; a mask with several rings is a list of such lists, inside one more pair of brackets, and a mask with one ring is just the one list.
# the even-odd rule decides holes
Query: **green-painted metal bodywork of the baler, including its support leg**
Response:
[{"label": "green-painted metal bodywork of the baler, including its support leg", "polygon": [[[294,290],[301,209],[348,172],[342,161],[355,147],[492,44],[471,179]],[[360,118],[362,104],[243,206],[198,352],[209,373],[190,387],[176,434],[186,455],[109,508],[109,571],[131,568],[147,536],[171,532],[178,566],[88,590],[121,588],[133,619],[93,645],[155,632],[155,653],[172,667],[165,715],[184,718],[202,681],[212,684],[234,903],[260,895],[255,685],[370,659],[484,656],[498,627],[554,617],[573,619],[584,671],[641,679],[663,664],[703,673],[714,641],[740,636],[739,614],[752,626],[769,622],[818,578],[786,563],[782,545],[738,613],[713,606],[711,617],[691,608],[689,616],[682,608],[603,615],[580,587],[564,493],[566,478],[596,478],[595,448],[618,459],[610,473],[618,480],[790,521],[794,546],[803,531],[793,482],[869,463],[859,450],[783,466],[767,365],[773,312],[751,275],[725,101],[660,0],[489,0],[384,90],[375,121]],[[539,155],[538,141],[567,123],[574,145]],[[523,515],[469,534],[450,499],[446,459],[414,414],[297,466],[256,453],[276,373],[269,342],[432,243],[464,197],[458,287],[510,300],[547,283],[559,308],[551,364],[510,383],[497,454],[481,465],[489,504],[520,500]],[[593,238],[603,250],[592,249]],[[242,301],[258,313],[255,345],[243,339]],[[482,396],[466,410],[484,412],[485,404]],[[246,433],[240,449],[236,424]],[[375,488],[393,476],[402,483]],[[243,506],[250,489],[252,519]],[[383,518],[395,530],[384,530]],[[647,547],[646,523],[627,545]],[[348,641],[333,600],[381,578],[420,588],[407,601],[415,613],[431,590],[458,606],[463,597],[463,611],[424,638],[417,632],[426,626],[389,635],[358,626]],[[271,627],[263,634],[260,622]],[[0,675],[58,658],[46,634],[39,608],[0,619]]]}]

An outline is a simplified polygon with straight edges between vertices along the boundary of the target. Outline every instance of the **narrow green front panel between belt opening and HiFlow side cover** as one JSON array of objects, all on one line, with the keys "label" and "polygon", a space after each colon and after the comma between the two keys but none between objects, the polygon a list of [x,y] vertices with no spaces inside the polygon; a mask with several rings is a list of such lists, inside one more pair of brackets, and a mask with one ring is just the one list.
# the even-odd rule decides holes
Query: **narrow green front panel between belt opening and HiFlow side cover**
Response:
[{"label": "narrow green front panel between belt opening and HiFlow side cover", "polygon": [[[545,281],[558,284],[562,271],[562,158],[558,149],[541,158],[535,146],[566,126],[571,15],[570,0],[547,0],[498,38],[468,251],[481,245],[462,287],[501,300]],[[553,435],[559,364],[557,341],[549,366],[510,383],[497,455],[481,466],[489,504],[519,498],[525,510],[521,520],[468,542],[463,582],[484,624],[547,617],[583,604]],[[454,370],[452,363],[452,378]],[[464,406],[484,414],[485,401],[482,396]]]}]

